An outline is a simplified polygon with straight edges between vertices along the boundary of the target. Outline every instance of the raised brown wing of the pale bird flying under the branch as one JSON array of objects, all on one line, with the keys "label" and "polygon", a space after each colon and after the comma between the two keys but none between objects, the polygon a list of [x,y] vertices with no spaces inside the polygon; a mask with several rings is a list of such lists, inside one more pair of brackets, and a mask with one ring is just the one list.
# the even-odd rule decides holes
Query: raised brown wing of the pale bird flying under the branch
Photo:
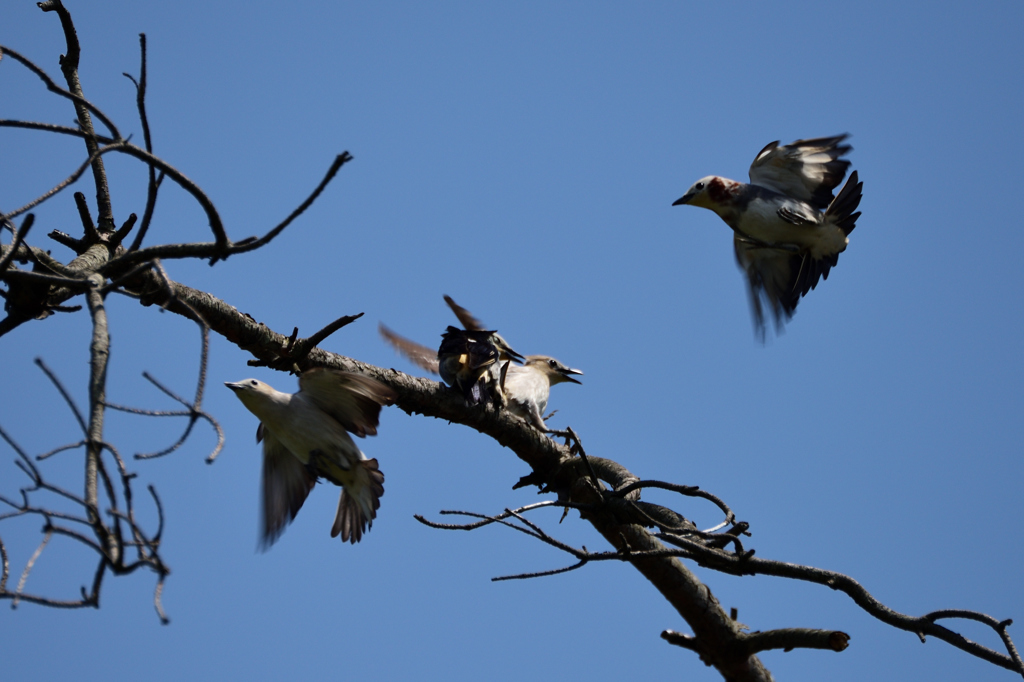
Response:
[{"label": "raised brown wing of the pale bird flying under the branch", "polygon": [[395,392],[370,377],[318,367],[299,377],[299,391],[357,436],[377,435],[381,406]]}]

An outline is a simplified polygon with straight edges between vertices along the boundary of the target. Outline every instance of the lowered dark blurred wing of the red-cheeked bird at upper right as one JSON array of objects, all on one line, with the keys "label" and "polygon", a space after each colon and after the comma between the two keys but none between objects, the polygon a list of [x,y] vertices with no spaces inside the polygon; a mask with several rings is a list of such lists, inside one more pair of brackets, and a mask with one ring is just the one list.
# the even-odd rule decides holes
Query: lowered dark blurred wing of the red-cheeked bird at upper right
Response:
[{"label": "lowered dark blurred wing of the red-cheeked bird at upper right", "polygon": [[815,260],[807,251],[773,247],[736,235],[733,240],[736,262],[746,273],[754,326],[758,336],[765,338],[765,315],[762,299],[768,302],[775,318],[775,329],[793,317],[800,297],[814,289],[836,265],[839,254]]}]

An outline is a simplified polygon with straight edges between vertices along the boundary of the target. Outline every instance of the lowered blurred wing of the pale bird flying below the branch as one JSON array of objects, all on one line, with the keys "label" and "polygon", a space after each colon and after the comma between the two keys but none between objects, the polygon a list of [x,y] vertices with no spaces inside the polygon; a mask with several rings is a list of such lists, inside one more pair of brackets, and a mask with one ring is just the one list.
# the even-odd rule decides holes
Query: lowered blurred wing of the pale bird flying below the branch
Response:
[{"label": "lowered blurred wing of the pale bird flying below the branch", "polygon": [[285,526],[302,509],[302,503],[316,483],[316,476],[262,424],[257,435],[263,439],[260,548],[265,550],[276,542]]}]

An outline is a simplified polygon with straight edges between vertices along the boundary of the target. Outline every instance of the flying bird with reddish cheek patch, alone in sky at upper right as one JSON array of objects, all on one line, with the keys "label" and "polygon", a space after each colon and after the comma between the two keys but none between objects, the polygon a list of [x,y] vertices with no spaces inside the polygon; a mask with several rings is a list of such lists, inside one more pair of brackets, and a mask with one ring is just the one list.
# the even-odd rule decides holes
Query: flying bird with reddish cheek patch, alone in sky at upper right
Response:
[{"label": "flying bird with reddish cheek patch, alone in sky at upper right", "polygon": [[755,331],[765,338],[762,299],[781,332],[802,296],[814,289],[850,243],[863,182],[857,171],[839,195],[852,151],[847,134],[767,144],[751,164],[750,183],[702,177],[673,206],[711,209],[733,230],[736,262],[746,273]]}]

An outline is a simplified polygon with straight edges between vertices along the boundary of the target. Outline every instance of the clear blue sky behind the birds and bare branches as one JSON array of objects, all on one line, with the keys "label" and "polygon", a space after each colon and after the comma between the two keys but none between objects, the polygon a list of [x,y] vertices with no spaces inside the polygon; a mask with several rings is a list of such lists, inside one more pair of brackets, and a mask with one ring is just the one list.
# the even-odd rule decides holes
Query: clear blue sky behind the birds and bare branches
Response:
[{"label": "clear blue sky behind the birds and bare branches", "polygon": [[[580,368],[558,386],[554,427],[648,478],[695,484],[752,524],[758,556],[846,572],[906,613],[969,608],[1016,619],[1024,645],[1024,5],[970,3],[355,3],[69,0],[86,95],[141,143],[137,34],[150,45],[155,150],[203,186],[233,239],[261,233],[355,158],[269,248],[216,267],[166,262],[282,333],[359,322],[324,347],[421,374],[377,334],[385,322],[433,345],[452,295],[518,350]],[[0,43],[55,78],[56,15],[4,3]],[[0,117],[70,125],[70,104],[11,59]],[[767,142],[849,132],[862,217],[827,282],[785,333],[755,339],[732,237],[713,213],[672,207],[697,178],[746,179]],[[77,139],[0,131],[0,209],[20,206],[84,157]],[[145,169],[106,157],[115,216],[141,214]],[[94,191],[86,181],[76,190]],[[79,235],[71,191],[36,211],[33,242]],[[148,243],[209,238],[165,184]],[[7,238],[4,238],[5,241]],[[194,390],[194,325],[109,300],[110,399],[175,404],[148,370]],[[32,359],[86,402],[88,317],[58,315],[0,340],[0,424],[40,453],[79,436]],[[108,578],[101,608],[0,604],[5,680],[719,679],[658,638],[687,626],[634,569],[600,564],[494,584],[569,557],[519,534],[429,529],[413,514],[495,513],[536,502],[527,468],[442,421],[382,416],[360,444],[387,476],[373,530],[329,536],[337,491],[313,491],[267,553],[256,552],[256,420],[221,386],[249,376],[212,343],[200,426],[180,452],[131,462],[166,507],[164,593],[155,577]],[[172,442],[182,422],[110,414],[122,452]],[[0,491],[25,482],[0,447]],[[78,488],[80,453],[44,471]],[[710,505],[671,497],[705,527]],[[152,522],[145,500],[140,513]],[[570,514],[536,519],[604,549]],[[0,524],[16,576],[38,519]],[[27,589],[74,598],[93,563],[54,540]],[[1011,673],[872,620],[843,594],[697,568],[753,630],[813,627],[843,653],[768,652],[780,680],[1008,680]],[[959,625],[959,624],[955,624]],[[998,648],[994,633],[963,629]]]}]

